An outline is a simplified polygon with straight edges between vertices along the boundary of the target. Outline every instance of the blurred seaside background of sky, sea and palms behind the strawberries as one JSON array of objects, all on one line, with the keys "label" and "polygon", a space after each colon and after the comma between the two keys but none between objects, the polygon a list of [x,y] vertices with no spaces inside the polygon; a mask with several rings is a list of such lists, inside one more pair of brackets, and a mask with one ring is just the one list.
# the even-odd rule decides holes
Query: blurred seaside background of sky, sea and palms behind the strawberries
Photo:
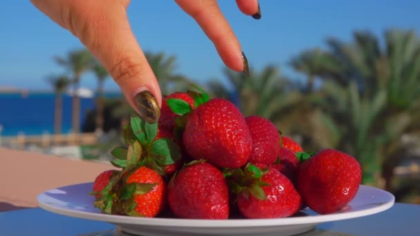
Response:
[{"label": "blurred seaside background of sky, sea and palms behind the strawberries", "polygon": [[[250,66],[228,70],[173,1],[133,1],[133,31],[168,95],[195,83],[270,119],[305,150],[335,148],[363,184],[420,204],[419,1],[220,1]],[[0,9],[0,146],[107,161],[133,114],[70,32],[29,1]],[[1,158],[1,157],[0,157]]]}]

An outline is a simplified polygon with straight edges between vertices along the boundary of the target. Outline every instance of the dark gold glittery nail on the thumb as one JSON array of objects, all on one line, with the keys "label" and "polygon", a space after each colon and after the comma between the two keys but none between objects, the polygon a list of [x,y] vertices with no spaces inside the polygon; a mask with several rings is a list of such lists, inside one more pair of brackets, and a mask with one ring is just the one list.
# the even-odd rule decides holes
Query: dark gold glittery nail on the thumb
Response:
[{"label": "dark gold glittery nail on the thumb", "polygon": [[153,124],[160,117],[158,101],[149,90],[143,90],[134,96],[135,106],[139,109],[140,117],[147,123]]}]

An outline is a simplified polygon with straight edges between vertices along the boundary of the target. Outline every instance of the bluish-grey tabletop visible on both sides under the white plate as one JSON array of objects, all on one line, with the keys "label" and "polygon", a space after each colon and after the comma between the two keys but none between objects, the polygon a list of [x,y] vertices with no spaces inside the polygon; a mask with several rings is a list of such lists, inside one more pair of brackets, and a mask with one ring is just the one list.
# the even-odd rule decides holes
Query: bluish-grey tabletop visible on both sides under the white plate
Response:
[{"label": "bluish-grey tabletop visible on both sides under the white plate", "polygon": [[[113,224],[28,208],[0,213],[0,236],[126,236]],[[299,236],[420,235],[420,206],[395,204],[382,213],[328,222]]]}]

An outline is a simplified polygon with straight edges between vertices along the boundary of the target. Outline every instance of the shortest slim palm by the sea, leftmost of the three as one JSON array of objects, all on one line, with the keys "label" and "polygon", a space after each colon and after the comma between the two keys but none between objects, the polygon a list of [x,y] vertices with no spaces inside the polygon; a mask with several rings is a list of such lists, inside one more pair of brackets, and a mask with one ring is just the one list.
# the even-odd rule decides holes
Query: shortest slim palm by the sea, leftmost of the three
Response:
[{"label": "shortest slim palm by the sea, leftmost of the three", "polygon": [[70,79],[66,75],[48,77],[48,83],[51,84],[55,92],[55,110],[54,110],[54,132],[61,133],[61,120],[63,113],[62,95],[70,84]]}]

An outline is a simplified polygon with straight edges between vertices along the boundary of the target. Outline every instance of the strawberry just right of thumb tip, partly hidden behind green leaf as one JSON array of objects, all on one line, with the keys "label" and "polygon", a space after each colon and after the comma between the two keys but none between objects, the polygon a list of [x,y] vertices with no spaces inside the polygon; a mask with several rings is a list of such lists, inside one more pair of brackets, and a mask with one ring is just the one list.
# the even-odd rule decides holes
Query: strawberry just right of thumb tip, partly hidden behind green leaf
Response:
[{"label": "strawberry just right of thumb tip, partly hidden behind green leaf", "polygon": [[174,92],[171,95],[164,97],[162,101],[162,108],[160,108],[158,125],[160,128],[164,128],[172,132],[175,127],[175,118],[179,117],[179,115],[176,115],[171,108],[169,108],[167,104],[168,99],[182,99],[187,101],[191,109],[194,108],[194,100],[185,92]]}]

